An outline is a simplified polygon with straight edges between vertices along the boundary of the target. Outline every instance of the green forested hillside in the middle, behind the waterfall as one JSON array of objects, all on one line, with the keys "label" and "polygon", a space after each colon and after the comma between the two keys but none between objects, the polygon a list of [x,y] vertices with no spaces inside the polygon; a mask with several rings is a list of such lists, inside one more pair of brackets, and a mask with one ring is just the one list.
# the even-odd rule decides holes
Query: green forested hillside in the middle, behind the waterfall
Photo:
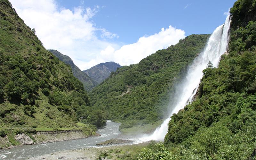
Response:
[{"label": "green forested hillside in the middle, behind the waterfall", "polygon": [[103,107],[120,129],[155,123],[168,114],[168,91],[200,53],[209,35],[191,35],[112,73],[90,93],[92,105]]}]

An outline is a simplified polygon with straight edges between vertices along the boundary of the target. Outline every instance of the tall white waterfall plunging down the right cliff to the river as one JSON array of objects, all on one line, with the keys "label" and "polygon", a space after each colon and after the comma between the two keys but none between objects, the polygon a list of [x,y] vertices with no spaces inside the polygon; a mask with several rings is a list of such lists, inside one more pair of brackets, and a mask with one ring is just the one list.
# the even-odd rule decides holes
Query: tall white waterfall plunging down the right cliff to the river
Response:
[{"label": "tall white waterfall plunging down the right cliff to the river", "polygon": [[[199,54],[188,67],[185,78],[176,86],[174,102],[169,106],[170,116],[184,108],[189,102],[193,101],[196,94],[200,79],[203,77],[203,70],[207,67],[208,61],[212,61],[214,67],[218,67],[221,55],[227,51],[228,31],[230,26],[229,16],[223,25],[217,27],[210,36],[204,51]],[[147,140],[164,140],[168,131],[168,123],[171,118],[164,120],[160,127],[156,128],[151,135],[145,135],[140,141]]]}]

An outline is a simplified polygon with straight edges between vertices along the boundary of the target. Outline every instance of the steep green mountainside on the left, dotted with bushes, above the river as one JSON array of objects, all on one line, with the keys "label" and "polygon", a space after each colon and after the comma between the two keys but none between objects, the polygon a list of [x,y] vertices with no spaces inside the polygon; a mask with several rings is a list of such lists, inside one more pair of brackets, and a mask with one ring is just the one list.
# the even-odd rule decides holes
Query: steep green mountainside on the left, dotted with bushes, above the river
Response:
[{"label": "steep green mountainside on the left, dotted with bushes, above the river", "polygon": [[80,129],[89,136],[106,123],[71,68],[43,47],[8,0],[0,0],[0,39],[0,138],[8,139],[0,148],[18,145],[20,133]]}]

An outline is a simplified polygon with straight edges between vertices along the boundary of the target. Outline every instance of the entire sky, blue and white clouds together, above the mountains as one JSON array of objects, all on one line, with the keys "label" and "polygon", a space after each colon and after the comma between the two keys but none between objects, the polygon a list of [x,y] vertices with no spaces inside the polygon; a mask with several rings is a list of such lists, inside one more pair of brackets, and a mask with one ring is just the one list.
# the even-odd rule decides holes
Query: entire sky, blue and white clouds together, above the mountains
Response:
[{"label": "entire sky, blue and white clouds together, above the mountains", "polygon": [[210,34],[235,0],[10,0],[46,49],[85,70],[136,64],[191,34]]}]

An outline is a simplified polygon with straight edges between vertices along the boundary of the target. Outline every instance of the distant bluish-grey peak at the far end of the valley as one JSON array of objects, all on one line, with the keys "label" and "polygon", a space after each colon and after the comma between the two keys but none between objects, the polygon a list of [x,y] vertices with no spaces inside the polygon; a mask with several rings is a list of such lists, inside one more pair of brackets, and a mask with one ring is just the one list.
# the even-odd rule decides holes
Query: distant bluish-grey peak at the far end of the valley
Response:
[{"label": "distant bluish-grey peak at the far end of the valley", "polygon": [[84,70],[83,72],[90,76],[95,82],[100,84],[104,81],[111,72],[115,72],[117,68],[121,68],[118,63],[115,62],[105,62],[97,64],[90,69]]}]

